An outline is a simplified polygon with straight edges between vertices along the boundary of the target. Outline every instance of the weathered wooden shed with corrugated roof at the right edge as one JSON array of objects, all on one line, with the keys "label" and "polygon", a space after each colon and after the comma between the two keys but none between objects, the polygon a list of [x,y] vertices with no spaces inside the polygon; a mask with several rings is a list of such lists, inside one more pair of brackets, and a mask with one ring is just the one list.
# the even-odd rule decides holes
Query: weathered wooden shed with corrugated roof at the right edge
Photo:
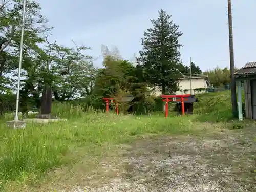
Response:
[{"label": "weathered wooden shed with corrugated roof at the right edge", "polygon": [[231,75],[236,77],[239,119],[243,119],[242,90],[245,97],[245,118],[256,119],[256,62],[246,63]]}]

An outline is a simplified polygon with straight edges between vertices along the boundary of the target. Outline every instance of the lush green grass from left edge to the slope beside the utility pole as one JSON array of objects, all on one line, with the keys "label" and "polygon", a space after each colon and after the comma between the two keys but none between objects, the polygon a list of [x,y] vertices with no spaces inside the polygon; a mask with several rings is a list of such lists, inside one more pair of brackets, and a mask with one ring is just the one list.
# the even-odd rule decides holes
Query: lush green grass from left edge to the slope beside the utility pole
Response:
[{"label": "lush green grass from left edge to the slope beside the utility pole", "polygon": [[[196,115],[171,116],[164,113],[151,116],[109,114],[87,110],[72,104],[54,103],[52,113],[66,122],[47,125],[27,124],[26,129],[6,129],[0,122],[0,183],[37,180],[48,170],[69,165],[87,155],[102,153],[105,144],[133,142],[146,134],[194,134],[200,122],[220,122],[231,119],[230,92],[197,96]],[[10,118],[10,117],[8,117]],[[242,129],[241,123],[230,129]],[[82,154],[77,153],[79,150]],[[39,176],[39,177],[38,177]],[[4,186],[4,185],[2,185]]]}]

